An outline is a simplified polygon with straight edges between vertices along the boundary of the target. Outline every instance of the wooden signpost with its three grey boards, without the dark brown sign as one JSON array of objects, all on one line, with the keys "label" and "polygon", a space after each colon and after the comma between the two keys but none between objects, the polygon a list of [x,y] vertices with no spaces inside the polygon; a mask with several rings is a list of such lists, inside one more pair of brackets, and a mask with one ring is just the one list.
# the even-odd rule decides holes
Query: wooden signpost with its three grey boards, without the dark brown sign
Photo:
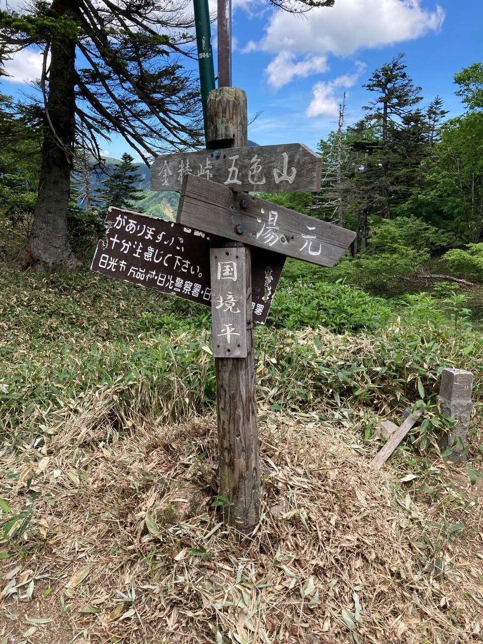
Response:
[{"label": "wooden signpost with its three grey boards, without the dark brown sign", "polygon": [[[181,189],[177,222],[211,237],[219,494],[227,502],[225,524],[245,534],[260,519],[250,288],[252,271],[258,270],[256,252],[269,249],[279,256],[333,266],[355,238],[355,232],[244,192],[321,187],[321,160],[305,146],[246,147],[246,107],[243,90],[212,91],[207,110],[211,149],[160,157],[151,174],[151,188]],[[213,151],[220,141],[232,141],[236,147]]]}]

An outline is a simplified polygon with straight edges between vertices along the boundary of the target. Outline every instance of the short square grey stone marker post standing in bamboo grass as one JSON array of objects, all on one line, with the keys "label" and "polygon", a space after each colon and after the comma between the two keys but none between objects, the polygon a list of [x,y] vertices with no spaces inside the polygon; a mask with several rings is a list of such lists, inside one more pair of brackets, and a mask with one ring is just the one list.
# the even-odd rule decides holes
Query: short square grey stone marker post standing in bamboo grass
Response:
[{"label": "short square grey stone marker post standing in bamboo grass", "polygon": [[451,416],[456,424],[439,442],[441,450],[452,448],[448,457],[451,462],[460,462],[466,457],[462,454],[468,444],[468,425],[473,410],[471,390],[473,374],[464,369],[444,369],[441,374],[441,386],[438,401],[441,411]]}]

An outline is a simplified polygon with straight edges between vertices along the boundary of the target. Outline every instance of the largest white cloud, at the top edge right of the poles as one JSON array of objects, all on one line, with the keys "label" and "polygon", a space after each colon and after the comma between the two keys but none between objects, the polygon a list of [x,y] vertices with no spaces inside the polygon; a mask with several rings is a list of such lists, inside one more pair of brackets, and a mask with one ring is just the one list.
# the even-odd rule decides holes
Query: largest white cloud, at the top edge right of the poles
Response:
[{"label": "largest white cloud, at the top edge right of the poles", "polygon": [[438,33],[445,18],[439,5],[426,10],[422,0],[337,0],[332,8],[314,9],[303,17],[274,12],[260,43],[249,43],[265,52],[290,52],[338,56],[358,50],[414,40]]}]

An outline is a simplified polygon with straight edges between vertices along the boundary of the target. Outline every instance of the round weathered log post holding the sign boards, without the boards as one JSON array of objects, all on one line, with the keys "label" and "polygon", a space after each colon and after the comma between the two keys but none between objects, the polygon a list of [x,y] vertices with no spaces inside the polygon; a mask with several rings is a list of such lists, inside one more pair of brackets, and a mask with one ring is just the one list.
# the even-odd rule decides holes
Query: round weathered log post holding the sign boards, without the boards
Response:
[{"label": "round weathered log post holding the sign boards, without the boards", "polygon": [[[213,90],[208,99],[208,147],[246,147],[247,97],[233,87]],[[215,152],[216,154],[216,152]],[[212,239],[215,248],[243,248]],[[247,357],[215,358],[220,497],[227,526],[249,534],[260,520],[260,457],[256,419],[250,249],[245,247]]]}]

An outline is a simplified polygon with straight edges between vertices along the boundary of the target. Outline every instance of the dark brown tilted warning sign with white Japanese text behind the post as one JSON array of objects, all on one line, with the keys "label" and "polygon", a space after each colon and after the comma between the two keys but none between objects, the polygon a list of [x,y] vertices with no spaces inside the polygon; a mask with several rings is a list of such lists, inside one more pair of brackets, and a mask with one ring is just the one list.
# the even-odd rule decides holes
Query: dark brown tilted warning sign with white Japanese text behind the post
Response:
[{"label": "dark brown tilted warning sign with white Japanese text behind the post", "polygon": [[[284,261],[274,252],[254,251],[254,321],[267,319]],[[211,306],[209,235],[191,226],[109,208],[106,241],[97,244],[91,270]]]}]

